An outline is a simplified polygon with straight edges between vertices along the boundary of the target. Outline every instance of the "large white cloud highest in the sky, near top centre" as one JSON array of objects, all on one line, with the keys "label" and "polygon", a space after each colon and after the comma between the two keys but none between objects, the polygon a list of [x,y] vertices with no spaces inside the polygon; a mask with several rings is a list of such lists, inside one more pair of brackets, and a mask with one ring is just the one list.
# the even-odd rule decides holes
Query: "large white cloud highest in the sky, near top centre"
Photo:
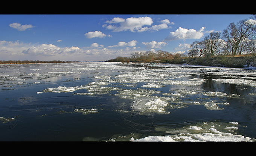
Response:
[{"label": "large white cloud highest in the sky, near top centre", "polygon": [[154,25],[153,20],[150,17],[131,17],[131,18],[119,18],[115,17],[110,21],[107,21],[104,24],[103,27],[105,27],[108,30],[113,30],[114,32],[119,32],[119,31],[131,31],[131,32],[143,32],[143,31],[158,31],[163,28],[168,28],[167,24],[169,20],[163,20],[162,24],[159,25]]}]

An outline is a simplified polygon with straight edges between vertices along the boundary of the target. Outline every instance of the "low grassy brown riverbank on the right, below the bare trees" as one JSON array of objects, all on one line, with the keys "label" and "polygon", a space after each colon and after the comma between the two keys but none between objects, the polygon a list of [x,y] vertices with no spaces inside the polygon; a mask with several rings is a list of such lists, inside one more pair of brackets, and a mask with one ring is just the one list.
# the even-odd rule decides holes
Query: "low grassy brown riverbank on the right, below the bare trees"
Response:
[{"label": "low grassy brown riverbank on the right, below the bare trees", "polygon": [[256,57],[252,55],[241,56],[215,56],[215,57],[180,57],[169,60],[118,60],[112,59],[106,62],[145,62],[145,63],[167,63],[176,65],[201,65],[228,68],[256,67]]}]

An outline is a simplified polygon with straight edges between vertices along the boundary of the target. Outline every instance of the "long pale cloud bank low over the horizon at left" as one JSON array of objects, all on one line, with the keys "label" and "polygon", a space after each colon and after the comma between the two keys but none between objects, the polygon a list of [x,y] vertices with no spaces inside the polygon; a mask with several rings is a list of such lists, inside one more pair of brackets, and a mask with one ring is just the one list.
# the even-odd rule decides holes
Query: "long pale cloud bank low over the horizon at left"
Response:
[{"label": "long pale cloud bank low over the horizon at left", "polygon": [[103,45],[92,43],[91,47],[79,48],[58,47],[54,44],[31,44],[20,41],[0,40],[0,55],[2,60],[75,60],[75,61],[105,61],[118,56],[129,56],[136,47],[137,41],[119,43],[126,45],[125,49],[108,49]]}]

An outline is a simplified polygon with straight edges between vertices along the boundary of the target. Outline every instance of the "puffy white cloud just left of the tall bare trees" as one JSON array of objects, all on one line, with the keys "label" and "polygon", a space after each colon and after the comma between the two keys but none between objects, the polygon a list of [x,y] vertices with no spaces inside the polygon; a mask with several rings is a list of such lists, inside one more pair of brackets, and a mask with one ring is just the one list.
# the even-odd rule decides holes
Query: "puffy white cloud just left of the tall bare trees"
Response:
[{"label": "puffy white cloud just left of the tall bare trees", "polygon": [[204,36],[205,27],[201,27],[200,30],[186,29],[179,27],[177,30],[171,32],[169,36],[165,38],[165,41],[180,40],[180,39],[200,39]]}]

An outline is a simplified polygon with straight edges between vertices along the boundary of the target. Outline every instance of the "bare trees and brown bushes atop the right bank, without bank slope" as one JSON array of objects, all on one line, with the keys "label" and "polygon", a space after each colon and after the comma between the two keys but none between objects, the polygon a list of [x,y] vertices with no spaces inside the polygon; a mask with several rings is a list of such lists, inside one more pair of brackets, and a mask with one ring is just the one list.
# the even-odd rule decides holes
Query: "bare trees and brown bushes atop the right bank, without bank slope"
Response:
[{"label": "bare trees and brown bushes atop the right bank, without bank slope", "polygon": [[250,20],[241,20],[238,23],[230,23],[222,32],[212,32],[202,41],[194,41],[190,44],[188,53],[172,54],[167,51],[133,52],[130,57],[116,57],[108,62],[170,62],[182,57],[213,57],[213,56],[237,56],[248,54],[256,56],[256,15]]}]

